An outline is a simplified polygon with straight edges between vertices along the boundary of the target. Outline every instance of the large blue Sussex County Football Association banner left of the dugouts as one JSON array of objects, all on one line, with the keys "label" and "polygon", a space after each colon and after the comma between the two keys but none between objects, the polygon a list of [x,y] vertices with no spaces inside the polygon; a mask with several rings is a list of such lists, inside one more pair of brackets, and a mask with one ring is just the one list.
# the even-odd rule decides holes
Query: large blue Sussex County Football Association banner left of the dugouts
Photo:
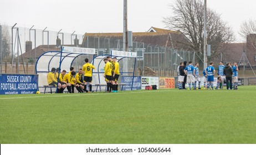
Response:
[{"label": "large blue Sussex County Football Association banner left of the dugouts", "polygon": [[0,74],[0,94],[35,94],[38,75]]}]

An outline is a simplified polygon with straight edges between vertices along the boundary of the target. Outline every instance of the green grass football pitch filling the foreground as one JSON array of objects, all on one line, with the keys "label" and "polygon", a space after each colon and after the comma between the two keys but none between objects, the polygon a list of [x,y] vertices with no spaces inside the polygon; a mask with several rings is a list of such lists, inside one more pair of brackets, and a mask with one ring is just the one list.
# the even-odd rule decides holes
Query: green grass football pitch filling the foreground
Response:
[{"label": "green grass football pitch filling the foreground", "polygon": [[256,87],[0,96],[0,143],[256,143]]}]

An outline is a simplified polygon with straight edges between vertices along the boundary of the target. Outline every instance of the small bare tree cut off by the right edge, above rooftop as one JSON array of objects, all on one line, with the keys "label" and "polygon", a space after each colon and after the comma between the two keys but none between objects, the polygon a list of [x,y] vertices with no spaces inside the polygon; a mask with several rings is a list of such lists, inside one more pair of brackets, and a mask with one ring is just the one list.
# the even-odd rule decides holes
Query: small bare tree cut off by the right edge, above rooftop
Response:
[{"label": "small bare tree cut off by the right edge, above rooftop", "polygon": [[256,49],[256,20],[249,19],[240,25],[239,34]]}]

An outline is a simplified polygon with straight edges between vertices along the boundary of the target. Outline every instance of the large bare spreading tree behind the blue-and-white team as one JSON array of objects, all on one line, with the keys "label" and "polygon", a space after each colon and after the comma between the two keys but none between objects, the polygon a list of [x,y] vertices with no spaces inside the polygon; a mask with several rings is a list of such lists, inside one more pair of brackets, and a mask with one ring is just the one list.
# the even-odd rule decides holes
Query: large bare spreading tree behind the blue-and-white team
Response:
[{"label": "large bare spreading tree behind the blue-and-white team", "polygon": [[[199,0],[176,0],[170,5],[173,16],[166,17],[166,27],[181,32],[190,42],[191,50],[203,54],[203,2]],[[232,28],[223,22],[221,15],[207,9],[208,44],[211,44],[212,58],[223,51],[226,43],[234,41]]]}]

